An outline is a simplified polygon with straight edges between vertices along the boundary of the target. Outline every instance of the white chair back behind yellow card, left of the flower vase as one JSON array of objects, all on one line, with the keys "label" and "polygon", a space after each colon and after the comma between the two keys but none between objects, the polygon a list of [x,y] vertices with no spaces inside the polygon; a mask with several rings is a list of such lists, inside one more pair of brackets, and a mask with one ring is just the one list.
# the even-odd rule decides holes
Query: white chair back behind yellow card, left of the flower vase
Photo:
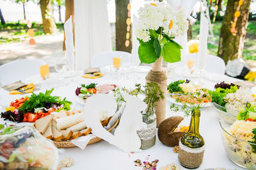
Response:
[{"label": "white chair back behind yellow card, left of the flower vase", "polygon": [[122,56],[122,61],[124,66],[132,65],[132,55],[129,52],[124,51],[107,51],[95,54],[91,59],[91,67],[104,67],[113,65],[113,58]]}]

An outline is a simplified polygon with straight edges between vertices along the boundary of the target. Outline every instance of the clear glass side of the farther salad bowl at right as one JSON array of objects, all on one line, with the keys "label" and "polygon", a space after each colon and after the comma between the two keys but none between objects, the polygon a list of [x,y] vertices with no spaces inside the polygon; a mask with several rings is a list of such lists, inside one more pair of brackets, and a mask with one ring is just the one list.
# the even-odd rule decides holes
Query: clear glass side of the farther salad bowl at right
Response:
[{"label": "clear glass side of the farther salad bowl at right", "polygon": [[225,121],[227,123],[234,123],[236,121],[236,116],[239,114],[239,110],[235,109],[227,109],[226,107],[223,107],[221,105],[216,104],[215,102],[211,103],[212,107],[216,111],[216,116],[221,119],[225,118]]}]

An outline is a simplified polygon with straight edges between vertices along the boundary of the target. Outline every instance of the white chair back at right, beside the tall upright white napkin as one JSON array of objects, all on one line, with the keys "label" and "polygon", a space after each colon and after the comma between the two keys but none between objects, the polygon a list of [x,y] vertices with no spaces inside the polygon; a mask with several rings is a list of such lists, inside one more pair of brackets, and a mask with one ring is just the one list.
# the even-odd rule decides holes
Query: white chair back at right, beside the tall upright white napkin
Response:
[{"label": "white chair back at right, beside the tall upright white napkin", "polygon": [[225,74],[225,62],[218,56],[207,54],[205,70],[211,73]]}]

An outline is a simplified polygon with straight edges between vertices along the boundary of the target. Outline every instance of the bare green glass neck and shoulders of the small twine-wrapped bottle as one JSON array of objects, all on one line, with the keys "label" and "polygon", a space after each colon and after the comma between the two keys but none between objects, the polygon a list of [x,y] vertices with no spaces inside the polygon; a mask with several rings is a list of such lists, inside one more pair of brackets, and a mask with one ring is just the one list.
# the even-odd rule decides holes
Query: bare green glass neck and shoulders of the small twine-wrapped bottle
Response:
[{"label": "bare green glass neck and shoulders of the small twine-wrapped bottle", "polygon": [[192,112],[188,132],[180,138],[181,143],[189,148],[200,148],[204,146],[204,138],[199,134],[199,121],[200,111],[195,110]]}]

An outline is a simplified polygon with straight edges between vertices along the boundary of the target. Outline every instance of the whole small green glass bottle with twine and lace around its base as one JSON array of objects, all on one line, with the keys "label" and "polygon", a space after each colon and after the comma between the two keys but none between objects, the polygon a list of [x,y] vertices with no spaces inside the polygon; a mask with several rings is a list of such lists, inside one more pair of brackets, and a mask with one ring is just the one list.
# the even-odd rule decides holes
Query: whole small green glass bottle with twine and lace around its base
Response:
[{"label": "whole small green glass bottle with twine and lace around its base", "polygon": [[192,112],[189,130],[180,137],[179,162],[182,166],[195,169],[199,167],[204,158],[204,138],[199,134],[200,110]]}]

